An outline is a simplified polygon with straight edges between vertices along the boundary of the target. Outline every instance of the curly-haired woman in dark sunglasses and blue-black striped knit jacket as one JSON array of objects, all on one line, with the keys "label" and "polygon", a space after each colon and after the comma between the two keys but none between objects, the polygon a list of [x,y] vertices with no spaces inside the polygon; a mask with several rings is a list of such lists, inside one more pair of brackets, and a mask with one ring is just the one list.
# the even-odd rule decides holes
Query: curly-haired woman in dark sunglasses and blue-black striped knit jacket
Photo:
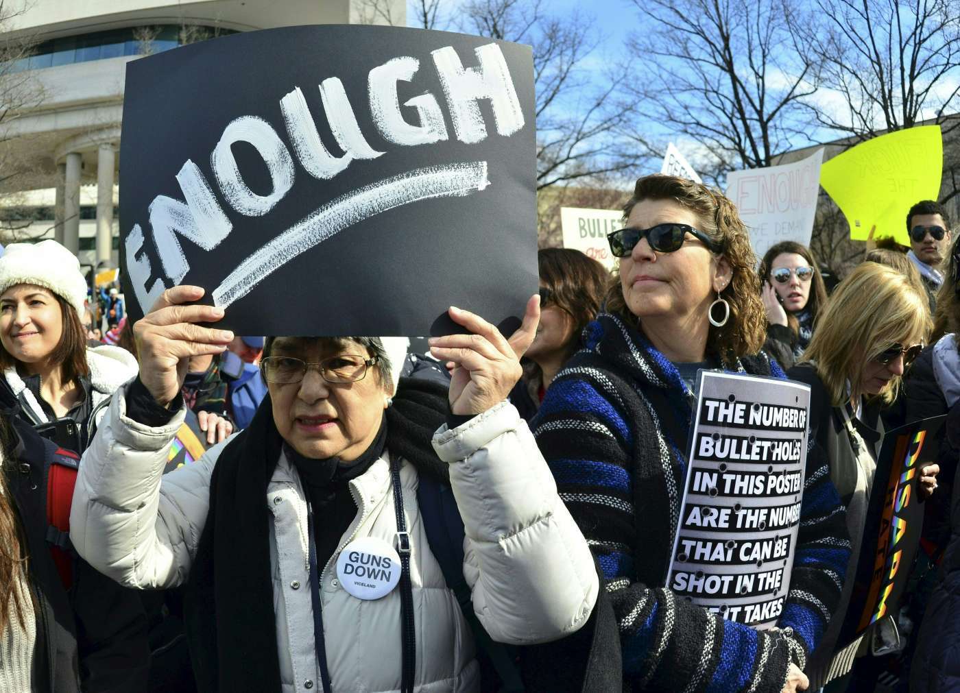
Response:
[{"label": "curly-haired woman in dark sunglasses and blue-black striped knit jacket", "polygon": [[[763,305],[756,256],[730,200],[671,176],[636,181],[606,312],[566,363],[531,424],[607,581],[632,690],[795,691],[805,657],[837,603],[828,542],[843,513],[826,467],[810,456],[803,524],[779,628],[757,632],[690,604],[664,586],[684,489],[698,369],[783,377],[757,353]],[[820,545],[818,546],[818,542]],[[843,553],[846,562],[846,553]]]}]

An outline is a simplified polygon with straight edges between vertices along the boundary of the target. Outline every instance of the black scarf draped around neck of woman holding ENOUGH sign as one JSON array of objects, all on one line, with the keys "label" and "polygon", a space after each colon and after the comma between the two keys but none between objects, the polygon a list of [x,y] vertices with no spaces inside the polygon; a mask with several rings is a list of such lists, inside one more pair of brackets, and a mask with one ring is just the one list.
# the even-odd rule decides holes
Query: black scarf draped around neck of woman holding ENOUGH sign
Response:
[{"label": "black scarf draped around neck of woman holding ENOUGH sign", "polygon": [[[386,418],[390,452],[448,484],[447,466],[430,444],[446,408],[443,386],[401,378]],[[213,470],[186,585],[187,638],[200,691],[280,690],[266,500],[282,445],[268,395]]]}]

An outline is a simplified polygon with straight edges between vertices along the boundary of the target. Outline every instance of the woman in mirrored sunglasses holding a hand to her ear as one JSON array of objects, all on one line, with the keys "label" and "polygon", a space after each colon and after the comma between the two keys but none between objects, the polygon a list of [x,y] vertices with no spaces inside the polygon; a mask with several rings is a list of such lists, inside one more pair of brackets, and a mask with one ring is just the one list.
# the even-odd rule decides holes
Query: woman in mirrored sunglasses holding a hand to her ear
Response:
[{"label": "woman in mirrored sunglasses holding a hand to her ear", "polygon": [[810,344],[817,311],[827,303],[827,287],[813,253],[793,241],[766,251],[759,275],[767,314],[764,348],[789,369]]}]

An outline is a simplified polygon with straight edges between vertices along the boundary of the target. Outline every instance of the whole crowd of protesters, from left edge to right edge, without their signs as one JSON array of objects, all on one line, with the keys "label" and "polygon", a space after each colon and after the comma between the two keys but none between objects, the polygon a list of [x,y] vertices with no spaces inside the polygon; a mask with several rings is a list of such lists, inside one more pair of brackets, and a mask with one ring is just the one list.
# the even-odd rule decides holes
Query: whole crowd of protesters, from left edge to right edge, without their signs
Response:
[{"label": "whole crowd of protesters, from left edge to right edge, without their signs", "polygon": [[[906,227],[828,293],[808,248],[757,258],[724,195],[648,176],[613,274],[542,250],[513,335],[451,307],[426,343],[234,335],[184,285],[135,323],[96,297],[104,344],[76,257],[9,246],[0,690],[832,693],[883,652],[960,690],[960,244],[937,203]],[[665,585],[700,370],[811,389],[768,630]],[[909,599],[843,642],[883,435],[941,415]],[[396,562],[376,598],[363,552]]]}]

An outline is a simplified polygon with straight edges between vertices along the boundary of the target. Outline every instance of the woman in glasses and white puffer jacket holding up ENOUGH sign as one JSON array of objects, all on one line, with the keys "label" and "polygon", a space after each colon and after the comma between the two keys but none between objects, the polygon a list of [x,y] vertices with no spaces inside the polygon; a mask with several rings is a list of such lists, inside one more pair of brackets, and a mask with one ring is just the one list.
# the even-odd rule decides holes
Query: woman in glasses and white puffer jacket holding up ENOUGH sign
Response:
[{"label": "woman in glasses and white puffer jacket holding up ENOUGH sign", "polygon": [[[188,358],[233,337],[197,324],[224,315],[186,305],[202,296],[168,289],[134,327],[140,376],[84,456],[71,517],[78,551],[116,580],[186,583],[201,690],[474,691],[470,612],[478,638],[515,645],[587,623],[587,542],[504,401],[537,297],[509,341],[450,308],[469,333],[431,340],[455,365],[448,403],[433,383],[395,387],[405,340],[269,338],[251,426],[161,478]],[[444,548],[438,528],[458,540]]]}]

